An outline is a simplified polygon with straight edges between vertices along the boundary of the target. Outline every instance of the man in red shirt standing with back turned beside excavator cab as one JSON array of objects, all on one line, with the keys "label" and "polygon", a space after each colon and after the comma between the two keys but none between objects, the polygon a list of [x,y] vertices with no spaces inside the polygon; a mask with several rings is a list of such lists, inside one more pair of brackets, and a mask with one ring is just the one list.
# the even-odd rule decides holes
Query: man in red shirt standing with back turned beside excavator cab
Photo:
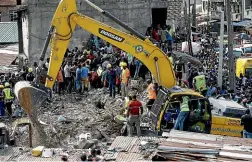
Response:
[{"label": "man in red shirt standing with back turned beside excavator cab", "polygon": [[135,127],[137,129],[137,136],[141,136],[140,129],[140,118],[143,113],[143,106],[140,101],[136,99],[136,95],[132,96],[132,101],[128,106],[128,135],[132,136],[133,124],[135,123]]}]

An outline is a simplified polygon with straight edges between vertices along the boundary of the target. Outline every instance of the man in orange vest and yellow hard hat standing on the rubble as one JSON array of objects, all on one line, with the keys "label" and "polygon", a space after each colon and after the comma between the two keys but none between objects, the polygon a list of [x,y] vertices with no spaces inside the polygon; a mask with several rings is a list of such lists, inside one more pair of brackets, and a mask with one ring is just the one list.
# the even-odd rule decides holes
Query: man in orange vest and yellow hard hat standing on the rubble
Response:
[{"label": "man in orange vest and yellow hard hat standing on the rubble", "polygon": [[123,62],[122,64],[123,70],[122,70],[122,77],[121,77],[121,91],[122,96],[126,97],[128,95],[128,85],[129,85],[129,79],[130,79],[130,71],[127,67],[127,63]]}]

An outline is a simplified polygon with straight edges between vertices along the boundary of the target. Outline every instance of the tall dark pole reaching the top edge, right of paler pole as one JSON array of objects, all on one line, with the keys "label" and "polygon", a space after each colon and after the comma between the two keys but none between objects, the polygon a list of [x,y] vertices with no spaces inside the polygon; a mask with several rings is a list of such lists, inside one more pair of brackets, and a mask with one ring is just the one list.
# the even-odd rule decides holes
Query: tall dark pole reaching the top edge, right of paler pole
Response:
[{"label": "tall dark pole reaching the top edge, right of paler pole", "polygon": [[235,72],[234,72],[234,55],[233,55],[233,25],[231,13],[231,0],[226,0],[227,28],[228,28],[228,58],[229,58],[229,84],[230,90],[235,90]]}]

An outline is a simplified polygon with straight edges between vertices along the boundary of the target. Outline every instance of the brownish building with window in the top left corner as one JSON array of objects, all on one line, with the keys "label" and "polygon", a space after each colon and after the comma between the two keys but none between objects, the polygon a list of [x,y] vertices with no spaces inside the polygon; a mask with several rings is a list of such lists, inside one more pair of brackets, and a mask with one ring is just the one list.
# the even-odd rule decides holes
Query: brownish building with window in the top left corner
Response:
[{"label": "brownish building with window in the top left corner", "polygon": [[16,0],[0,0],[0,22],[16,21]]}]

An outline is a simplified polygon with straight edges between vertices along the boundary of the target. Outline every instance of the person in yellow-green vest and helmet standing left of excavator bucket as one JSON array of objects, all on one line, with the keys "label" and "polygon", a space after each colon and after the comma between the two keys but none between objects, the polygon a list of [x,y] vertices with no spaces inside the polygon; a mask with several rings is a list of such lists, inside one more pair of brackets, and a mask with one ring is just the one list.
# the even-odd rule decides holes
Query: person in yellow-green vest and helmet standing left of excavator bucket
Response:
[{"label": "person in yellow-green vest and helmet standing left of excavator bucket", "polygon": [[12,103],[13,103],[13,93],[11,91],[11,88],[10,88],[10,84],[8,82],[6,82],[4,84],[4,90],[3,90],[3,93],[4,93],[4,103],[5,103],[5,107],[8,111],[8,115],[11,117],[12,115]]}]

